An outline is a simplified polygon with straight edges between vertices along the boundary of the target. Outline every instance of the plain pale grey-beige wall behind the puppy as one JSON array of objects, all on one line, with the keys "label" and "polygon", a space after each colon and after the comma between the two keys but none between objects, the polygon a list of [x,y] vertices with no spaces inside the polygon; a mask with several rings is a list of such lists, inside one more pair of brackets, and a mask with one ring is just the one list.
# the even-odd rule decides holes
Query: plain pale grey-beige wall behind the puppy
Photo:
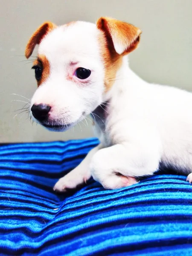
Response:
[{"label": "plain pale grey-beige wall behind the puppy", "polygon": [[25,99],[12,93],[30,99],[36,89],[24,50],[41,23],[96,22],[100,16],[128,21],[143,31],[140,47],[129,56],[140,77],[191,90],[192,0],[0,0],[0,143],[93,136],[85,122],[64,133],[30,125],[26,113],[15,116],[25,103],[12,100]]}]

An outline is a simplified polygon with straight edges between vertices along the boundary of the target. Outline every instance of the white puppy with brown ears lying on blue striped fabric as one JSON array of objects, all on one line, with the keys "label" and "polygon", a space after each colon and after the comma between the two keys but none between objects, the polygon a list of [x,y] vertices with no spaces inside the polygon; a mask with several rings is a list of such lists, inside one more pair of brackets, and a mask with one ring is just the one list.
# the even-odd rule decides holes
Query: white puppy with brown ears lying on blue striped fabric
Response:
[{"label": "white puppy with brown ears lying on blue striped fabric", "polygon": [[42,24],[26,46],[38,44],[35,121],[65,131],[91,114],[100,144],[54,190],[76,188],[91,176],[105,189],[137,183],[161,163],[192,181],[192,94],[149,84],[128,66],[141,31],[109,17],[96,24]]}]

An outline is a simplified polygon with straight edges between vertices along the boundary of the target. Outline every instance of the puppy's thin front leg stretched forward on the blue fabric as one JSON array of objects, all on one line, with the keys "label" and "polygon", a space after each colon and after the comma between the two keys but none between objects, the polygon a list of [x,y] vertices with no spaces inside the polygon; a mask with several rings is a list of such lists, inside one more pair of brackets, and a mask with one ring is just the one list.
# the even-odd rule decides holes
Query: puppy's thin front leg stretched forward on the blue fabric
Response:
[{"label": "puppy's thin front leg stretched forward on the blue fabric", "polygon": [[101,144],[90,150],[87,156],[82,160],[82,162],[69,172],[67,175],[62,177],[54,186],[54,190],[59,192],[65,192],[67,189],[75,189],[78,185],[86,183],[90,179],[90,161],[93,155],[102,148]]}]

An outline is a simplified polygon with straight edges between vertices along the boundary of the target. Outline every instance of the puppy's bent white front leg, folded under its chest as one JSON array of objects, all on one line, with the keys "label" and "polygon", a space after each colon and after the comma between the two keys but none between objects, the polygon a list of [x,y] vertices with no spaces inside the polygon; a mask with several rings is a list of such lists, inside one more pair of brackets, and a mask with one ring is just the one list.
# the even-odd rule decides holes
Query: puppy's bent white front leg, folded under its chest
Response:
[{"label": "puppy's bent white front leg, folded under its chest", "polygon": [[106,189],[116,189],[137,183],[135,177],[153,175],[158,169],[158,148],[136,144],[113,145],[94,154],[91,161],[93,178]]}]

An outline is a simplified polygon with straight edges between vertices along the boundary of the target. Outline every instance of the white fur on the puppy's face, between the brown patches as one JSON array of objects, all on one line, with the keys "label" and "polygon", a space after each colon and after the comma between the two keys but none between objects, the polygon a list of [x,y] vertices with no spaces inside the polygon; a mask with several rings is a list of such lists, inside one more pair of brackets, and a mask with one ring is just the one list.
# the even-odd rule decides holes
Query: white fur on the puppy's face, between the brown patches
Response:
[{"label": "white fur on the puppy's face, between the brown patches", "polygon": [[[36,90],[31,104],[51,105],[50,118],[64,129],[84,119],[102,102],[104,70],[95,40],[98,34],[94,24],[79,21],[69,27],[59,26],[39,45],[38,54],[49,61],[50,76]],[[73,75],[78,67],[92,71],[88,85]],[[67,80],[68,75],[75,82]]]}]

